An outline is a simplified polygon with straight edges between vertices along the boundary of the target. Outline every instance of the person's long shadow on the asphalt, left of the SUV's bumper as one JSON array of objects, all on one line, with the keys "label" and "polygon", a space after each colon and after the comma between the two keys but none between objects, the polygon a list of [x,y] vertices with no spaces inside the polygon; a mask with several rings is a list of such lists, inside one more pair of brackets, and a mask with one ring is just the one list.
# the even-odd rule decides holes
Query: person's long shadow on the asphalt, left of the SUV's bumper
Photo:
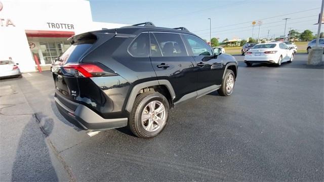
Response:
[{"label": "person's long shadow on the asphalt, left of the SUV's bumper", "polygon": [[[42,114],[39,113],[39,116]],[[58,181],[58,176],[52,165],[46,138],[51,134],[53,119],[45,119],[41,123],[36,115],[24,127],[16,158],[12,169],[12,181]]]}]

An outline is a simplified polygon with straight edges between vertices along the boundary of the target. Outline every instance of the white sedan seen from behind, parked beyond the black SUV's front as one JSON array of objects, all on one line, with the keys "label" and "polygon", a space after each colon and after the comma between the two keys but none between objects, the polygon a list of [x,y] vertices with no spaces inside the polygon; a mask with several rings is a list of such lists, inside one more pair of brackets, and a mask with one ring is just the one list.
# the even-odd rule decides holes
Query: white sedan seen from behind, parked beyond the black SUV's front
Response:
[{"label": "white sedan seen from behind, parked beyond the black SUV's front", "polygon": [[269,63],[280,66],[282,62],[292,62],[294,56],[294,51],[286,43],[259,43],[246,52],[244,62],[247,66],[252,66],[253,63]]}]

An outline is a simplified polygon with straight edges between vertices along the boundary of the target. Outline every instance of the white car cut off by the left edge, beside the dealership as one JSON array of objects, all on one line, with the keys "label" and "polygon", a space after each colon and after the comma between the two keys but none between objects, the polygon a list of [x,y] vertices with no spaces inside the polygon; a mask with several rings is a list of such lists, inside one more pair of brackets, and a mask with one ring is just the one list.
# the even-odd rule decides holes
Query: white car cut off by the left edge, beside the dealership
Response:
[{"label": "white car cut off by the left edge, beside the dealership", "polygon": [[21,77],[18,63],[14,63],[12,60],[0,60],[0,78],[5,77]]}]

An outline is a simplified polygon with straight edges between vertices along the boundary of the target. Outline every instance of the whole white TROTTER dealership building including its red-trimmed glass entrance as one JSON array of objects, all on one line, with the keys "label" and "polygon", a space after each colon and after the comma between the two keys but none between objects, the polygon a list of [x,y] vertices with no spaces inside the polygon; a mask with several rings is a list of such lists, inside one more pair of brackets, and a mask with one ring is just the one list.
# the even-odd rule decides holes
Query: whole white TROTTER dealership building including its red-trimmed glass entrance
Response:
[{"label": "whole white TROTTER dealership building including its red-trimmed glass entrance", "polygon": [[43,68],[70,47],[75,34],[125,24],[92,21],[89,1],[0,0],[0,60],[19,63],[22,72]]}]

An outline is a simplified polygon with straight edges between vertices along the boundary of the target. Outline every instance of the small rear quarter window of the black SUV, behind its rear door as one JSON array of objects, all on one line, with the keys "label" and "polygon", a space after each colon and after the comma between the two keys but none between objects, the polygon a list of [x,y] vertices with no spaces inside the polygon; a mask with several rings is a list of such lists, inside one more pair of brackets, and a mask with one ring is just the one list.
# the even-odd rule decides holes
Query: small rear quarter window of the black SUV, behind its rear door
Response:
[{"label": "small rear quarter window of the black SUV, behind its rear door", "polygon": [[135,40],[131,43],[128,48],[128,52],[133,57],[145,58],[149,56],[149,39],[148,33],[141,33]]}]

